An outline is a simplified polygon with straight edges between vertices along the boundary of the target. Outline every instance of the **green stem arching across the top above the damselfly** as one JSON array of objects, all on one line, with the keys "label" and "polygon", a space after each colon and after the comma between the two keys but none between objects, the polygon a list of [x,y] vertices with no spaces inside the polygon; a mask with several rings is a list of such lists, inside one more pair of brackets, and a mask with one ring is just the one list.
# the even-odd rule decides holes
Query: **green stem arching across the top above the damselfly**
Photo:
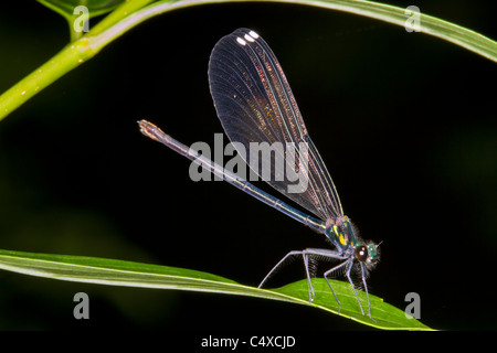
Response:
[{"label": "green stem arching across the top above the damselfly", "polygon": [[[107,44],[125,34],[141,22],[158,14],[176,9],[225,2],[247,2],[246,0],[170,0],[155,2],[134,0],[117,8],[92,31],[65,46],[52,60],[43,64],[29,76],[0,96],[0,120],[7,117],[24,101],[55,82],[71,69],[95,56]],[[346,11],[389,23],[404,26],[404,9],[372,1],[360,0],[258,0],[261,2],[281,2],[305,4],[318,8]],[[251,2],[258,2],[251,1]],[[145,7],[145,8],[144,8]],[[497,62],[497,43],[482,34],[441,19],[420,14],[421,32],[434,35],[463,46],[488,60]],[[415,35],[415,34],[413,34]]]}]

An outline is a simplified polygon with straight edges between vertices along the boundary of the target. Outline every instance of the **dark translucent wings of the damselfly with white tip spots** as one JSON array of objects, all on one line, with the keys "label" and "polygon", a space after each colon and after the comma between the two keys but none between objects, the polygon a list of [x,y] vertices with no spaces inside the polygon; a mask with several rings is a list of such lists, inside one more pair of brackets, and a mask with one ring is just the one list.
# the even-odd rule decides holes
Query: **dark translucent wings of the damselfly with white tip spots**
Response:
[{"label": "dark translucent wings of the damselfly with white tip spots", "polygon": [[[251,150],[251,142],[288,142],[296,148],[297,162],[307,160],[307,169],[305,163],[296,168],[294,160],[286,158],[286,150],[273,150],[271,179],[263,178],[264,181],[321,220],[343,215],[331,176],[307,133],[285,74],[257,33],[239,29],[218,42],[209,62],[209,84],[218,116],[232,142],[241,142],[245,151]],[[234,146],[251,165],[245,151]],[[284,170],[275,165],[277,157],[285,160],[285,167],[289,163],[296,172],[304,172],[306,188],[288,192],[296,182],[282,175]],[[263,175],[262,161],[251,168]]]}]

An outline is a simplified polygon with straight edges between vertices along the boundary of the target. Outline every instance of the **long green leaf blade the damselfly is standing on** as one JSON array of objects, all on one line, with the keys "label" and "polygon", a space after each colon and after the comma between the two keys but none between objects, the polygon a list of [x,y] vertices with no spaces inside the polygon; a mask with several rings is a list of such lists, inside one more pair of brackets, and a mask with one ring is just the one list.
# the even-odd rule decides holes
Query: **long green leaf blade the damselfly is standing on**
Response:
[{"label": "long green leaf blade the damselfly is standing on", "polygon": [[[324,279],[315,279],[316,298],[308,301],[307,282],[300,280],[277,289],[260,289],[240,285],[220,276],[141,263],[83,257],[0,250],[0,268],[24,275],[60,280],[158,289],[179,289],[213,293],[257,297],[294,302],[338,313],[337,302]],[[350,287],[341,281],[332,281],[334,289],[341,300],[342,317],[384,330],[431,330],[415,319],[408,319],[399,310],[382,299],[370,296],[372,315],[376,321],[362,315]],[[366,295],[359,292],[362,302]]]}]

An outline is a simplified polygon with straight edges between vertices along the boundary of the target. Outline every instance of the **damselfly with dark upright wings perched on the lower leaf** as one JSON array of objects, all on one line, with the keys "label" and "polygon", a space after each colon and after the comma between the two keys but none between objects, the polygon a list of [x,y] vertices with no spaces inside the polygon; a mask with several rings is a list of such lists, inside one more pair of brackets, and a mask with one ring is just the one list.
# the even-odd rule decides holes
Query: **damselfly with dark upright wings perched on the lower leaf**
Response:
[{"label": "damselfly with dark upright wings perched on the lower leaf", "polygon": [[[309,301],[315,297],[311,284],[311,259],[341,260],[338,266],[325,271],[324,277],[341,309],[340,300],[329,281],[331,275],[343,272],[350,282],[362,314],[351,274],[359,274],[368,298],[368,315],[371,303],[366,279],[380,258],[379,245],[363,242],[352,222],[343,215],[338,193],[319,152],[310,140],[292,89],[279,63],[266,42],[254,31],[239,29],[222,38],[214,46],[209,62],[209,83],[218,116],[230,140],[253,171],[262,175],[262,163],[250,163],[246,151],[251,142],[282,142],[296,147],[296,159],[306,161],[306,186],[299,192],[287,192],[288,178],[269,178],[268,184],[285,196],[313,213],[307,215],[268,193],[257,189],[231,171],[197,153],[155,125],[141,120],[141,132],[176,152],[189,158],[198,165],[224,179],[247,194],[275,207],[318,233],[322,233],[335,249],[306,248],[289,252],[263,279],[260,288],[290,257],[302,256],[307,276]],[[305,149],[299,146],[306,147]],[[244,150],[243,150],[244,149]],[[243,151],[242,151],[243,150]],[[295,162],[295,160],[293,160]],[[290,163],[286,160],[286,163]],[[276,167],[272,162],[272,176]],[[295,163],[290,168],[296,168]],[[299,167],[300,168],[300,167]]]}]

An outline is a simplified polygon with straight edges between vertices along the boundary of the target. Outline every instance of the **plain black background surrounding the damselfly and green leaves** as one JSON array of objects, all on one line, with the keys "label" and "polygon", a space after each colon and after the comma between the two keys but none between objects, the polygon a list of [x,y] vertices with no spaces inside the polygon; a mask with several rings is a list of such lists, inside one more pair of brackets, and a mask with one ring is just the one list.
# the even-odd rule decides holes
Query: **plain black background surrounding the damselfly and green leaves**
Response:
[{"label": "plain black background surrounding the damselfly and green leaves", "polygon": [[[415,4],[497,38],[490,1]],[[35,2],[2,7],[0,92],[56,54],[66,26]],[[436,329],[495,329],[495,63],[338,11],[273,3],[173,11],[41,92],[0,125],[0,247],[186,267],[256,286],[287,252],[326,246],[226,183],[192,182],[187,159],[138,131],[136,120],[147,118],[186,145],[213,143],[222,128],[209,55],[241,26],[277,55],[345,212],[364,238],[383,240],[370,291],[399,308],[417,292],[421,321]],[[300,263],[283,272],[274,285],[304,278]],[[86,321],[72,314],[78,291],[91,298]],[[275,301],[7,271],[0,328],[367,329]]]}]

